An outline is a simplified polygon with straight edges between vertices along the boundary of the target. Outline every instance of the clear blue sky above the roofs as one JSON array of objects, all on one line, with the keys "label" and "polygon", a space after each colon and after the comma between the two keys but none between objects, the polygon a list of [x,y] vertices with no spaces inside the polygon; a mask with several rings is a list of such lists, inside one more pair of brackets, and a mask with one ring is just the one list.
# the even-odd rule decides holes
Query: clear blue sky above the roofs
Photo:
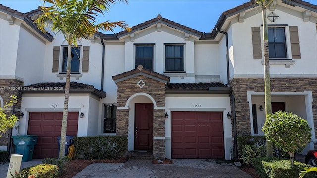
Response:
[{"label": "clear blue sky above the roofs", "polygon": [[[201,32],[210,32],[222,12],[249,0],[128,0],[129,4],[114,4],[98,22],[125,21],[130,26],[150,20],[161,14],[174,22]],[[317,0],[304,0],[317,5]],[[2,5],[20,12],[29,12],[42,5],[40,0],[0,0]],[[115,29],[119,32],[122,29]],[[112,32],[104,32],[112,33]]]}]

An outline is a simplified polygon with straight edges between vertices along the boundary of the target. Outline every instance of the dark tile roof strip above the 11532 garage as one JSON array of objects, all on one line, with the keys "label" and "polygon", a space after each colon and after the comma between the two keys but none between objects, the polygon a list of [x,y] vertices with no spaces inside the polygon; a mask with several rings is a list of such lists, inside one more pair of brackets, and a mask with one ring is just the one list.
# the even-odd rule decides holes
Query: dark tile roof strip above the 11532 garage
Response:
[{"label": "dark tile roof strip above the 11532 garage", "polygon": [[[42,82],[24,86],[22,93],[64,93],[65,82]],[[100,98],[106,97],[106,92],[96,89],[93,85],[70,82],[70,93],[93,93]]]}]

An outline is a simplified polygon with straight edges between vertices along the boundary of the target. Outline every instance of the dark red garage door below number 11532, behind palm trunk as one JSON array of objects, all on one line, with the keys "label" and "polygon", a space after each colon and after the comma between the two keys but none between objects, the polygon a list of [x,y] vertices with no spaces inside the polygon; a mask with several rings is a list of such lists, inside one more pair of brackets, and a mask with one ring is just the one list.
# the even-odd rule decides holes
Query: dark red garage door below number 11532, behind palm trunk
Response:
[{"label": "dark red garage door below number 11532, behind palm trunk", "polygon": [[[37,135],[33,158],[58,157],[62,112],[30,112],[28,135]],[[77,136],[78,112],[68,112],[67,136]]]}]

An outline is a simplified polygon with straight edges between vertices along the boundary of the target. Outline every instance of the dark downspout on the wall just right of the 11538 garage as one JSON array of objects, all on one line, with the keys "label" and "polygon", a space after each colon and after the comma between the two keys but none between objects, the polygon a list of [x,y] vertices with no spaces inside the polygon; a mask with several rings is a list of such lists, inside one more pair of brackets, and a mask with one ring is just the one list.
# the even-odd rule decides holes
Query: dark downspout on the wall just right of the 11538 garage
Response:
[{"label": "dark downspout on the wall just right of the 11538 garage", "polygon": [[[227,59],[227,84],[226,86],[229,85],[230,83],[230,69],[229,69],[229,45],[228,45],[228,33],[219,30],[218,28],[216,31],[224,34],[226,36],[226,59]],[[234,158],[238,158],[238,143],[237,143],[237,123],[236,123],[236,105],[235,105],[235,98],[232,95],[232,91],[229,94],[231,98],[231,105],[232,105],[232,119],[233,119],[233,138],[234,138]]]}]

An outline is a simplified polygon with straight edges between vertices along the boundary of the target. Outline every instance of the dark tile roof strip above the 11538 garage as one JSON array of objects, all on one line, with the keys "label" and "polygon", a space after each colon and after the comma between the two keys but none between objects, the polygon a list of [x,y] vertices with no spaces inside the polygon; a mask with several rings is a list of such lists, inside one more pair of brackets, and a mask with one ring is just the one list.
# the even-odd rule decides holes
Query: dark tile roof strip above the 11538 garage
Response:
[{"label": "dark tile roof strip above the 11538 garage", "polygon": [[208,90],[210,87],[227,87],[220,82],[211,83],[170,83],[166,89],[195,89]]}]

